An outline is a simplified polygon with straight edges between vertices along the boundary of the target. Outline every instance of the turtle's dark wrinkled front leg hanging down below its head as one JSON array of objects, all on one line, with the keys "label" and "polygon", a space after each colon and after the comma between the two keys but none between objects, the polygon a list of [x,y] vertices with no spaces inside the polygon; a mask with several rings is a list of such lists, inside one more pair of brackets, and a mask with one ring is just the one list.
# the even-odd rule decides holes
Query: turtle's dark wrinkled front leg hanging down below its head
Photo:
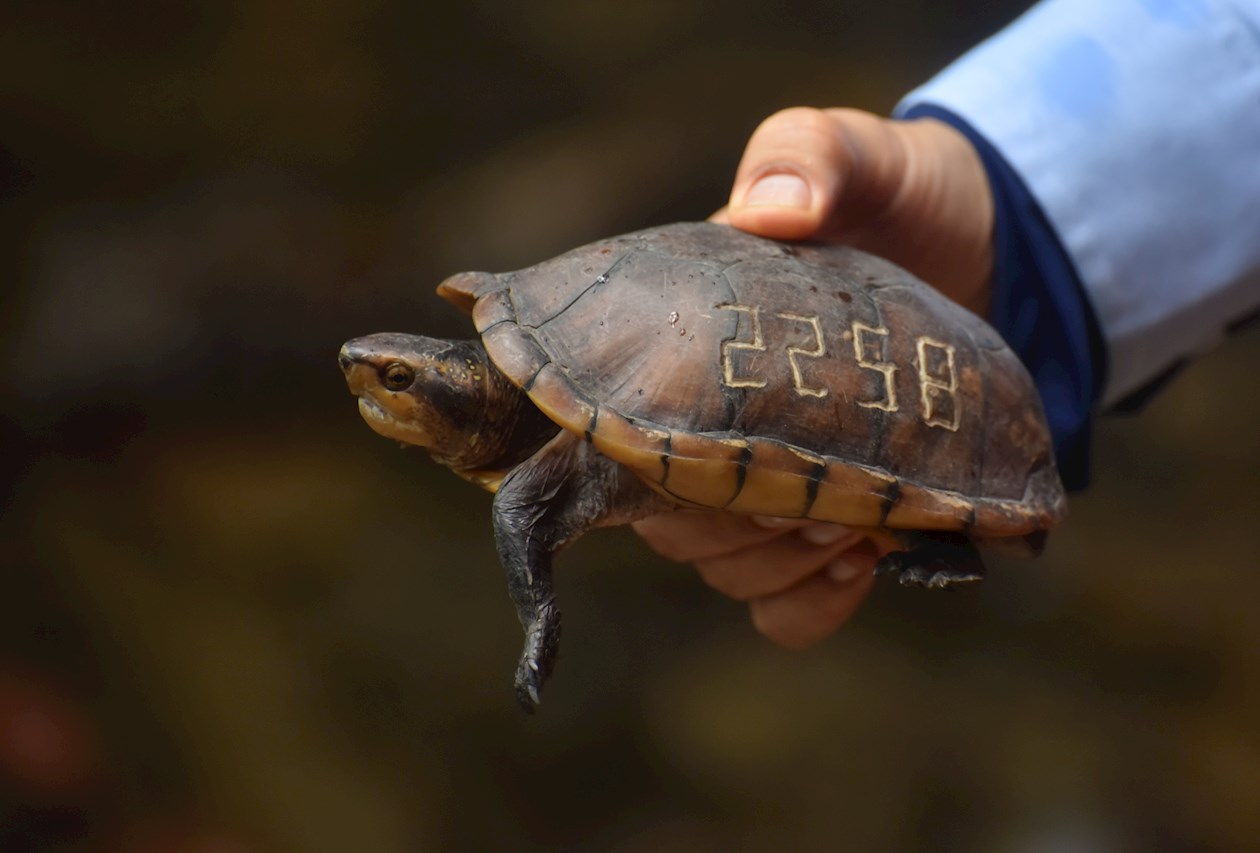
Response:
[{"label": "turtle's dark wrinkled front leg hanging down below its head", "polygon": [[625,524],[670,507],[634,474],[568,432],[503,479],[494,496],[494,538],[525,630],[515,685],[517,702],[527,712],[538,706],[559,643],[552,557],[592,527]]}]

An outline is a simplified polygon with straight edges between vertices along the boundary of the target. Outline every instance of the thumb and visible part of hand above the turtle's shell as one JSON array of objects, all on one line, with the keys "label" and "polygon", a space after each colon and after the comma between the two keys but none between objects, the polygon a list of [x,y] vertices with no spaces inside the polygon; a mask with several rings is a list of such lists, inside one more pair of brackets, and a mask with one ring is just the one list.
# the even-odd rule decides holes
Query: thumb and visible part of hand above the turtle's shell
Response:
[{"label": "thumb and visible part of hand above the turtle's shell", "polygon": [[937,121],[794,107],[753,131],[726,215],[776,239],[843,242],[983,312],[993,197],[971,144]]}]

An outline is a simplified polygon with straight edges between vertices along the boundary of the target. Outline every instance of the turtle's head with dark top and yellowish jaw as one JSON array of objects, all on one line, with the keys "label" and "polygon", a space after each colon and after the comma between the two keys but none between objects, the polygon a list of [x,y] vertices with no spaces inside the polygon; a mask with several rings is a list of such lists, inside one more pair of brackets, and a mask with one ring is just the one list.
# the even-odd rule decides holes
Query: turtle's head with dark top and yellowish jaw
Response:
[{"label": "turtle's head with dark top and yellowish jaw", "polygon": [[348,341],[338,362],[363,420],[387,438],[456,469],[498,452],[488,427],[507,378],[480,341],[386,333]]}]

